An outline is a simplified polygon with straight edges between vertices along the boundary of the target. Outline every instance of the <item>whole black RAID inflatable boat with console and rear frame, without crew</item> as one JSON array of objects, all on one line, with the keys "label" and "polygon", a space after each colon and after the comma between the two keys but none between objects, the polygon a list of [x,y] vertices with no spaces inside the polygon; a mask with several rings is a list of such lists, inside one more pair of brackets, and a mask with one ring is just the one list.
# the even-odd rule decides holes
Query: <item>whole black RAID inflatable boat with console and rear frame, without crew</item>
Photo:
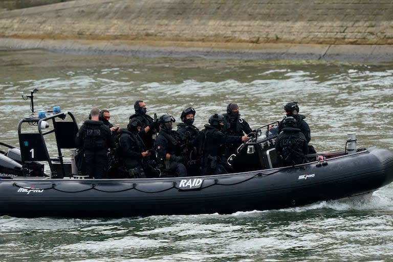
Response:
[{"label": "whole black RAID inflatable boat with console and rear frame, without crew", "polygon": [[[49,127],[49,128],[47,128]],[[18,125],[19,148],[0,143],[0,215],[122,217],[233,213],[351,198],[393,181],[393,152],[377,147],[309,155],[315,161],[279,167],[275,136],[258,135],[229,159],[236,173],[154,179],[85,179],[63,151],[75,148],[70,112],[32,114]],[[57,146],[51,157],[47,137]],[[66,154],[69,155],[69,154]],[[44,168],[48,164],[48,170]],[[48,173],[48,174],[46,174]]]}]

